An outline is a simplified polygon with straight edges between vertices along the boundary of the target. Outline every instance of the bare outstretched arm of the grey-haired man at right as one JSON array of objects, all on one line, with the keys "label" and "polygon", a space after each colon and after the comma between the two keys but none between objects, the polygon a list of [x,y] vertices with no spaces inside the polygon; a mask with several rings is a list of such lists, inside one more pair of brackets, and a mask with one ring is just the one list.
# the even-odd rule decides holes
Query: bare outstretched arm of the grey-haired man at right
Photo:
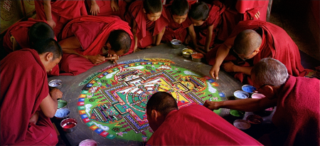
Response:
[{"label": "bare outstretched arm of the grey-haired man at right", "polygon": [[208,101],[203,104],[210,110],[218,110],[219,108],[228,108],[233,110],[241,110],[245,112],[255,112],[272,108],[277,105],[277,98],[270,100],[269,98],[247,98],[241,100],[226,100],[226,101]]}]

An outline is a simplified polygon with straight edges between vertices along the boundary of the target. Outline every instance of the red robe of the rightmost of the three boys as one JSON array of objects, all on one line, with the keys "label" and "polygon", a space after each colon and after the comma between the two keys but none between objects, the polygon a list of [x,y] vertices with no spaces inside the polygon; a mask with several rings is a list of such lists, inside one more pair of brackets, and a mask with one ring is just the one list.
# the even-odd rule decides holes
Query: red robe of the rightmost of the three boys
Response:
[{"label": "red robe of the rightmost of the three boys", "polygon": [[208,4],[209,6],[209,16],[208,19],[201,26],[194,26],[194,30],[196,31],[196,38],[198,45],[205,46],[206,45],[206,36],[208,33],[208,27],[213,26],[212,38],[210,41],[210,46],[213,46],[215,36],[218,33],[218,25],[221,22],[221,14],[225,10],[223,4],[219,1],[214,1],[213,4]]}]

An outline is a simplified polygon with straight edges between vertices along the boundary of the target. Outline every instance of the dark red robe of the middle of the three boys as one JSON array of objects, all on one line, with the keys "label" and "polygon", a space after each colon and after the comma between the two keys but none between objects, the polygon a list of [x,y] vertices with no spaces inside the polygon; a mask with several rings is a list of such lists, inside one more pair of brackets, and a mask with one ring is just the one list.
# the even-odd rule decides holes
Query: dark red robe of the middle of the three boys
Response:
[{"label": "dark red robe of the middle of the three boys", "polygon": [[164,36],[162,36],[161,41],[170,42],[172,39],[178,39],[184,41],[187,36],[187,29],[191,26],[192,22],[187,17],[186,21],[183,21],[181,24],[178,24],[174,21],[171,14],[171,4],[164,6],[164,17],[168,19],[169,25],[166,26],[166,31],[164,31]]}]

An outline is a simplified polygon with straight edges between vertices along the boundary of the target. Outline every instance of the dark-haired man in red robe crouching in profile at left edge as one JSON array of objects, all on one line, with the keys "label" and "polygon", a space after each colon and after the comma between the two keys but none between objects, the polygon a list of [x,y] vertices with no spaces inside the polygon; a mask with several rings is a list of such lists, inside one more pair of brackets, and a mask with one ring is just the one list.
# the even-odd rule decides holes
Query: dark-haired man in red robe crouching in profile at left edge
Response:
[{"label": "dark-haired man in red robe crouching in profile at left edge", "polygon": [[50,90],[46,72],[57,65],[62,50],[50,38],[34,49],[9,53],[1,60],[1,145],[56,145],[58,136],[50,118],[63,93]]}]

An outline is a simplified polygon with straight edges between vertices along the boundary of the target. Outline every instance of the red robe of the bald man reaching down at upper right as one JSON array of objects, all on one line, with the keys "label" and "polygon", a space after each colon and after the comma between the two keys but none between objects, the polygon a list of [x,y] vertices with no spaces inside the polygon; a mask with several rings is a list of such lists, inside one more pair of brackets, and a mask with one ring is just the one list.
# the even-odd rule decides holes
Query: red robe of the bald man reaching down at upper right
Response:
[{"label": "red robe of the bald man reaching down at upper right", "polygon": [[[266,21],[258,20],[248,20],[240,21],[239,24],[231,33],[230,38],[237,36],[241,31],[245,29],[252,29],[260,33],[262,36],[262,44],[260,46],[260,53],[257,53],[251,59],[242,61],[240,58],[235,57],[233,50],[230,50],[229,55],[225,58],[224,61],[233,61],[237,66],[254,66],[262,58],[271,57],[277,59],[278,61],[284,63],[284,66],[287,67],[289,75],[294,76],[304,76],[307,73],[307,70],[301,64],[301,58],[299,53],[299,48],[294,43],[292,38],[284,31],[281,27],[271,24]],[[210,65],[214,64],[214,58],[218,50],[218,46],[211,49],[206,54],[206,60]],[[235,73],[235,78],[240,80],[242,83],[252,85],[252,80],[250,76],[245,75],[244,73]]]}]

